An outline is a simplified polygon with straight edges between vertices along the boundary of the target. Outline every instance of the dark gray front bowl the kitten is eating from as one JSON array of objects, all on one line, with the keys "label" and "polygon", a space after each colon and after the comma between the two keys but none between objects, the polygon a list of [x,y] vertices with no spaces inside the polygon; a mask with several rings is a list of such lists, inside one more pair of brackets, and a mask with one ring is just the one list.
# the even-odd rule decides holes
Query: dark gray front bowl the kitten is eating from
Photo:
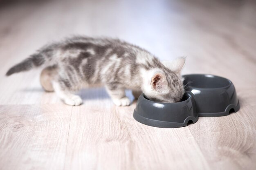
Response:
[{"label": "dark gray front bowl the kitten is eating from", "polygon": [[141,94],[138,98],[133,117],[142,124],[159,128],[178,128],[195,123],[198,113],[195,101],[190,93],[185,93],[177,103],[153,102]]}]

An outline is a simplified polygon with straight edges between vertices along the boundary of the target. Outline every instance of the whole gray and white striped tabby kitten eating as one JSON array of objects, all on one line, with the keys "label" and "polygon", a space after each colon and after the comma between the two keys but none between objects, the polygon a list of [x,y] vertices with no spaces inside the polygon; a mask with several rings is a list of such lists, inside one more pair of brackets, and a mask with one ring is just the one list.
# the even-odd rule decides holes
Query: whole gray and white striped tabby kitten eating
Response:
[{"label": "whole gray and white striped tabby kitten eating", "polygon": [[148,51],[117,39],[74,36],[43,46],[6,75],[44,66],[42,86],[73,106],[83,101],[72,92],[97,85],[106,87],[117,106],[130,105],[125,89],[131,89],[135,98],[143,92],[150,100],[173,103],[184,95],[184,63],[183,57],[160,62]]}]

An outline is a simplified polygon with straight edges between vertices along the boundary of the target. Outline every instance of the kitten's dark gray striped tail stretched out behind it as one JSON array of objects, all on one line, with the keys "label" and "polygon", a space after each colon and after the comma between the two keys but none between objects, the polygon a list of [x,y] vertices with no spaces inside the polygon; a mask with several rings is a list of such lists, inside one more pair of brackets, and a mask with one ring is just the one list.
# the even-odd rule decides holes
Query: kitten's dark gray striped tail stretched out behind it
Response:
[{"label": "kitten's dark gray striped tail stretched out behind it", "polygon": [[30,57],[28,57],[27,59],[11,67],[5,75],[9,76],[9,75],[12,75],[13,73],[19,73],[21,71],[29,71],[32,68],[47,65],[52,60],[52,56],[49,56],[49,51],[47,52],[38,51],[38,53],[30,55]]}]

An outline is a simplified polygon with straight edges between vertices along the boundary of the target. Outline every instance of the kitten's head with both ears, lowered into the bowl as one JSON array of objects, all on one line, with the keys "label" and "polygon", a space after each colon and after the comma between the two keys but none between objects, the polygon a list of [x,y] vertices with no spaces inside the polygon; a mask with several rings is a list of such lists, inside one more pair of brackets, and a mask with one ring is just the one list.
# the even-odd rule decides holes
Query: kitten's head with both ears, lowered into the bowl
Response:
[{"label": "kitten's head with both ears, lowered into the bowl", "polygon": [[148,75],[149,81],[144,90],[146,97],[155,102],[180,102],[185,92],[180,74],[184,63],[185,58],[179,57],[173,61],[162,62],[165,71],[153,70]]}]

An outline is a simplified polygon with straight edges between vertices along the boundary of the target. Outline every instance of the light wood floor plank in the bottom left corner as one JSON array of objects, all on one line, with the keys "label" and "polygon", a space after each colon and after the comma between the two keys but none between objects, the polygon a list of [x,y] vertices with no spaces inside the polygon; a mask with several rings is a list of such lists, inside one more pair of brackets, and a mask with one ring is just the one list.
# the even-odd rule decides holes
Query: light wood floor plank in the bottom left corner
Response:
[{"label": "light wood floor plank in the bottom left corner", "polygon": [[65,105],[0,105],[0,169],[63,169],[71,110]]}]

